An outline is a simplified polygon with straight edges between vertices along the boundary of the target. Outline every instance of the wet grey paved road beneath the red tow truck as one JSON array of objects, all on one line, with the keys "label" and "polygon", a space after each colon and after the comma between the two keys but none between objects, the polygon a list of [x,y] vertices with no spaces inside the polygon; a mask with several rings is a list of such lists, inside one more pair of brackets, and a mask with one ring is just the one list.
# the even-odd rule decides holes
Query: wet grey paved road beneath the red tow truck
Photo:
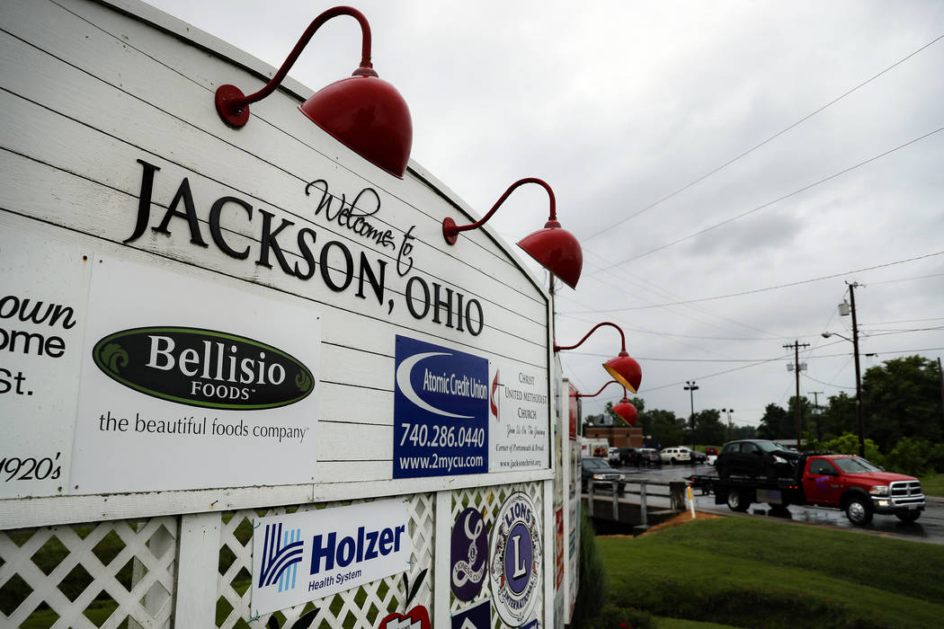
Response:
[{"label": "wet grey paved road beneath the red tow truck", "polygon": [[[649,469],[630,467],[619,468],[619,471],[626,473],[628,480],[631,482],[636,478],[660,481],[683,480],[686,476],[690,476],[691,474],[715,473],[715,469],[707,465],[664,465],[662,468]],[[716,505],[715,496],[700,495],[700,491],[694,491],[694,494],[695,508],[700,511],[717,511],[718,513],[727,515],[741,515],[734,514],[727,505]],[[638,502],[638,497],[629,495],[626,500]],[[650,508],[667,506],[668,501],[650,497],[649,505],[651,505]],[[846,519],[846,515],[837,509],[798,505],[790,505],[787,508],[788,510],[784,511],[783,509],[772,510],[765,504],[751,505],[747,517],[805,522],[834,528],[871,532],[876,535],[893,538],[944,544],[944,499],[940,498],[929,498],[924,513],[921,514],[921,517],[916,522],[905,523],[899,521],[895,516],[876,515],[868,526],[852,526],[851,522]]]}]

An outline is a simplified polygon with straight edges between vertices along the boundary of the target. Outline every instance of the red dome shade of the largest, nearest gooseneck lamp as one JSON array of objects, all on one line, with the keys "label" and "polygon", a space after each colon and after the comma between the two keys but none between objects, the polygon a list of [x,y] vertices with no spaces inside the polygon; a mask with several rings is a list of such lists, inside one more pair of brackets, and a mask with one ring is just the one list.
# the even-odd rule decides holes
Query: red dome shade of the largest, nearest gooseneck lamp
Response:
[{"label": "red dome shade of the largest, nearest gooseneck lamp", "polygon": [[299,109],[335,140],[402,178],[413,147],[410,109],[393,85],[364,71],[315,92]]}]

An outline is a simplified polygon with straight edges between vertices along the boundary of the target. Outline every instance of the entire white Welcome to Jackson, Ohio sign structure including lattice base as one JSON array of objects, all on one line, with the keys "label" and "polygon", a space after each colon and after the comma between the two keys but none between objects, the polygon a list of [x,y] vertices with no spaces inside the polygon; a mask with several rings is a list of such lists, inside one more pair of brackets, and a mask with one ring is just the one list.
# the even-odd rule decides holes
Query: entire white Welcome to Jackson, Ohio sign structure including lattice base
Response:
[{"label": "entire white Welcome to Jackson, Ohio sign structure including lattice base", "polygon": [[[136,0],[0,21],[0,541],[64,540],[112,622],[562,625],[550,298],[487,224],[444,239],[480,209],[284,75],[232,124],[278,72]],[[90,522],[143,557],[124,593]],[[80,623],[20,549],[7,621]]]}]

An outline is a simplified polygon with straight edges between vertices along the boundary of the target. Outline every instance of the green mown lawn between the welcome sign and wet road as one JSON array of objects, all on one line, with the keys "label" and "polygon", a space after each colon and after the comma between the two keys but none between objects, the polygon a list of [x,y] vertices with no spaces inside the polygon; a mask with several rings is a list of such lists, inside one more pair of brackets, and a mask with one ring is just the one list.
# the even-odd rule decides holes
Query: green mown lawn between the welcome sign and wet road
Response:
[{"label": "green mown lawn between the welcome sign and wet road", "polygon": [[658,617],[757,627],[944,618],[944,547],[935,544],[734,518],[598,544],[612,603]]}]

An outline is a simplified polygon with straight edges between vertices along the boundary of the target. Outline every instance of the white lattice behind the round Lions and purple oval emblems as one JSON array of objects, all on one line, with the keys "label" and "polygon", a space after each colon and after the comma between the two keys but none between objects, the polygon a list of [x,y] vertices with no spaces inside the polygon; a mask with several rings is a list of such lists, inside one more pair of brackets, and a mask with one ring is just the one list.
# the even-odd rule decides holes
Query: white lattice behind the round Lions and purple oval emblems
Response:
[{"label": "white lattice behind the round Lions and purple oval emblems", "polygon": [[[452,513],[449,515],[451,521],[455,521],[459,514],[466,507],[473,507],[480,511],[482,517],[485,521],[486,530],[489,531],[489,538],[491,538],[492,528],[495,526],[495,516],[498,512],[498,509],[501,508],[502,503],[505,502],[505,499],[508,498],[515,491],[524,491],[527,493],[531,500],[534,502],[534,509],[537,513],[544,513],[544,494],[542,492],[541,483],[519,483],[515,485],[498,485],[495,487],[480,487],[480,488],[467,488],[454,491],[452,493]],[[548,553],[550,556],[553,556],[553,548],[548,551],[548,548],[544,548],[544,560],[548,561]],[[487,576],[486,576],[487,582]],[[534,615],[538,619],[542,619],[543,624],[543,612],[544,609],[544,589],[538,588],[535,592],[537,596],[537,602],[534,604]],[[479,604],[481,601],[485,601],[492,598],[492,592],[489,590],[488,585],[481,588],[479,594],[472,601],[463,601],[456,598],[455,594],[451,591],[449,592],[449,612],[455,613],[462,609],[473,607],[476,604]],[[495,610],[492,610],[492,626],[494,629],[505,629],[508,627],[501,619],[498,617],[498,614]]]}]

